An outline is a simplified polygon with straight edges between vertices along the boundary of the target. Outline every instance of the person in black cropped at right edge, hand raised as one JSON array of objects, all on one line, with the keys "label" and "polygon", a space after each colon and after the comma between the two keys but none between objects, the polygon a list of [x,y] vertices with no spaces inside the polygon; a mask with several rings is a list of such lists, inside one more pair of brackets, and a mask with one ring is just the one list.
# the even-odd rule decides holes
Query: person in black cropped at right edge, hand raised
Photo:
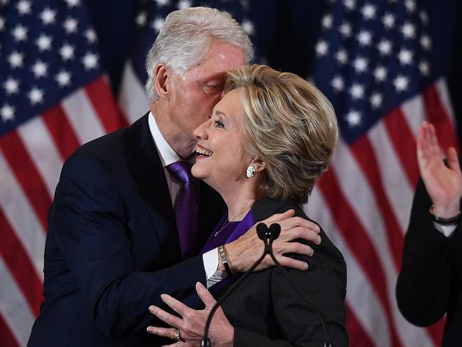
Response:
[{"label": "person in black cropped at right edge, hand raised", "polygon": [[429,326],[446,314],[443,347],[462,346],[462,173],[456,150],[448,166],[433,125],[417,138],[421,181],[412,204],[397,282],[399,310],[412,324]]}]

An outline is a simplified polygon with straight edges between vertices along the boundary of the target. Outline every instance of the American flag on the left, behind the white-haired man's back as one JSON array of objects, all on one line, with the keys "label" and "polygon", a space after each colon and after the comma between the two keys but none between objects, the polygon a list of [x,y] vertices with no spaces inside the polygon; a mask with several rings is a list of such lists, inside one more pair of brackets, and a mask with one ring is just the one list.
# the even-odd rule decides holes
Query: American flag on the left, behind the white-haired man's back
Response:
[{"label": "American flag on the left, behind the white-haired man's back", "polygon": [[80,0],[1,0],[0,45],[0,344],[25,346],[63,161],[127,122]]}]

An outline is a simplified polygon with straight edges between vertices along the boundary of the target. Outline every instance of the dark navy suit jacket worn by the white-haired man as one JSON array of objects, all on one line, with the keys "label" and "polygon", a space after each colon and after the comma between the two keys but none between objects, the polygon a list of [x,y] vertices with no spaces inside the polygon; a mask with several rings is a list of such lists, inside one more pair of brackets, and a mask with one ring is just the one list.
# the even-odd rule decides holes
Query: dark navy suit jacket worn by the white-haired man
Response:
[{"label": "dark navy suit jacket worn by the white-haired man", "polygon": [[[200,184],[198,249],[224,207]],[[170,293],[198,306],[201,256],[182,262],[148,114],[83,145],[65,162],[48,213],[45,301],[28,346],[161,346],[151,304]],[[202,232],[202,233],[201,233]]]}]

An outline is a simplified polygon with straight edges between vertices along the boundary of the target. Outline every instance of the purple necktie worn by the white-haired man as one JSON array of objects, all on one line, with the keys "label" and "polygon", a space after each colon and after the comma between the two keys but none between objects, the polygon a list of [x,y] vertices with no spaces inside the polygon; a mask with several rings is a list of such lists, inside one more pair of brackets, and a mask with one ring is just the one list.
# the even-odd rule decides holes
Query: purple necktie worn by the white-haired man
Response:
[{"label": "purple necktie worn by the white-haired man", "polygon": [[178,192],[175,201],[176,228],[183,259],[194,255],[198,229],[198,203],[191,166],[193,164],[188,161],[177,161],[167,166],[168,172],[183,182],[183,187]]}]

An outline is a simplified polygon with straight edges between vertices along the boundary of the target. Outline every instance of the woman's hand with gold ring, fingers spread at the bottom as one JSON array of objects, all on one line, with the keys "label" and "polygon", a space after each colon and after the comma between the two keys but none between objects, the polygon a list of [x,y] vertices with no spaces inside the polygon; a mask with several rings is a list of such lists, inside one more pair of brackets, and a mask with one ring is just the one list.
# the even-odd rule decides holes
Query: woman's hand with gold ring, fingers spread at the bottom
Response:
[{"label": "woman's hand with gold ring, fingers spread at the bottom", "polygon": [[[200,346],[200,341],[202,341],[205,321],[207,321],[208,314],[215,305],[215,299],[213,299],[212,294],[208,292],[207,289],[198,282],[195,285],[195,290],[198,292],[198,295],[202,302],[205,304],[205,309],[195,310],[190,309],[185,304],[181,303],[177,299],[174,299],[170,295],[162,294],[161,299],[168,306],[176,311],[180,317],[173,316],[163,309],[159,309],[156,306],[149,306],[149,311],[152,314],[157,316],[161,321],[164,321],[166,324],[172,328],[160,328],[156,326],[148,326],[147,331],[149,333],[154,333],[155,335],[163,336],[166,338],[175,339],[176,331],[180,331],[180,341],[168,345],[170,347],[197,347]],[[208,333],[210,342],[213,346],[220,347],[232,347],[234,342],[234,328],[230,322],[226,319],[225,314],[223,313],[221,307],[215,311],[215,315],[212,319],[212,324],[210,324],[210,330]]]}]

